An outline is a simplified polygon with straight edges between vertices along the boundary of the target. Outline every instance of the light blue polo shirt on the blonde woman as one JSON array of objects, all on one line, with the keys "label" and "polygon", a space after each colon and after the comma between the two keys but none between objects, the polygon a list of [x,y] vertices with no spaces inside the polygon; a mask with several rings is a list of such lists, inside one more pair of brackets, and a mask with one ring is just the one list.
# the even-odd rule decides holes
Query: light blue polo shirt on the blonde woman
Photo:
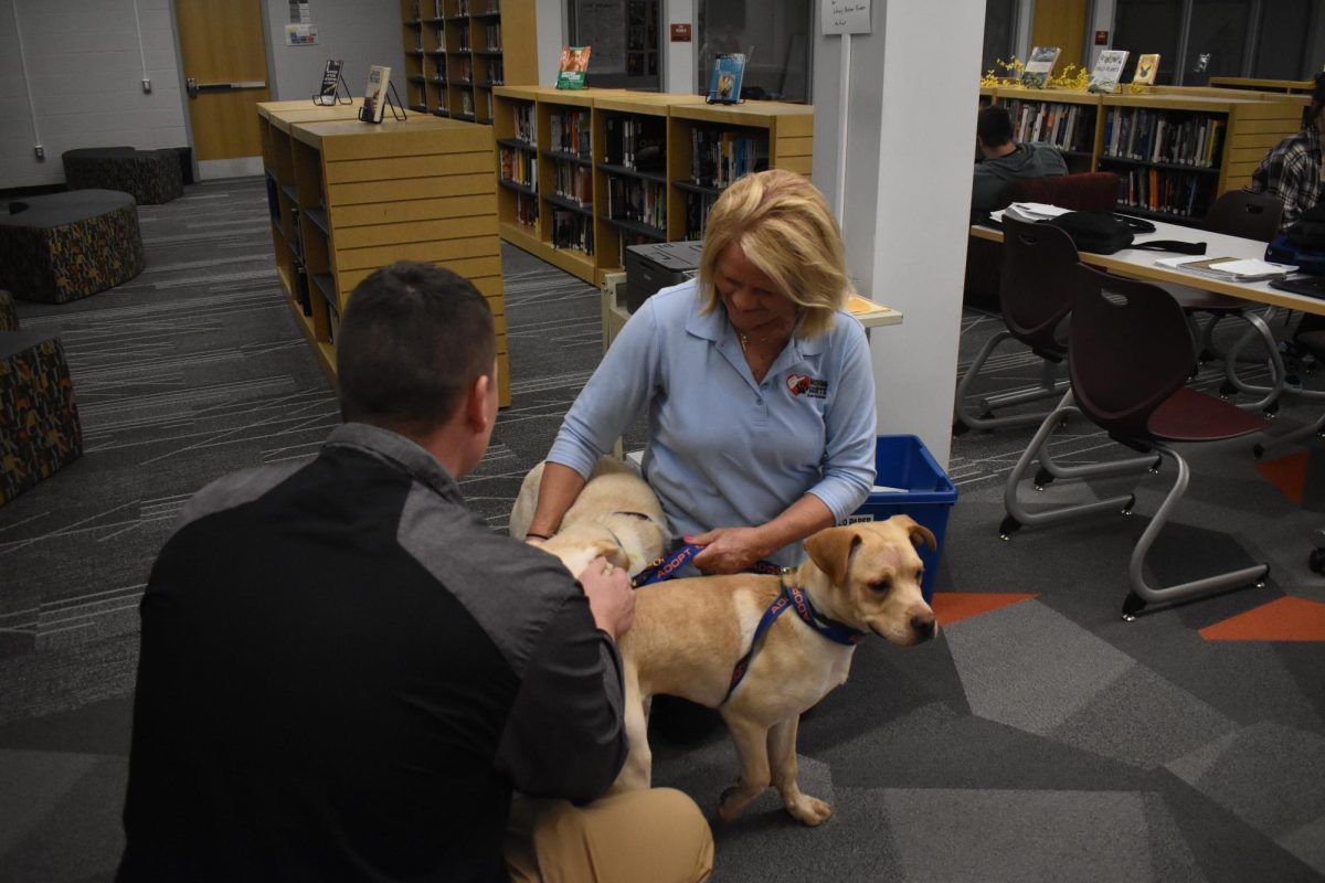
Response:
[{"label": "light blue polo shirt on the blonde woman", "polygon": [[[855,512],[874,482],[874,379],[860,322],[839,311],[828,334],[792,336],[755,383],[726,311],[700,307],[694,281],[645,301],[547,458],[588,475],[648,412],[644,477],[677,537],[765,524],[806,492],[837,522]],[[796,543],[772,560],[802,557]]]}]

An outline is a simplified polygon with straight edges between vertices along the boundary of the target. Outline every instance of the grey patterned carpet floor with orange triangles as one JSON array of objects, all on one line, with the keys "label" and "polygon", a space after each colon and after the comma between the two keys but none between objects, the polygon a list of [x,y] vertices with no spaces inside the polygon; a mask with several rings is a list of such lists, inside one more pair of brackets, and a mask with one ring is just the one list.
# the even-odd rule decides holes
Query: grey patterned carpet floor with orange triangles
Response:
[{"label": "grey patterned carpet floor with orange triangles", "polygon": [[[143,207],[140,277],[62,307],[20,304],[25,328],[65,340],[86,454],[0,507],[3,880],[110,879],[156,548],[203,483],[307,457],[337,422],[281,301],[265,199],[260,180],[236,180]],[[494,528],[600,353],[592,289],[514,249],[504,262],[513,405],[464,483]],[[966,312],[963,363],[996,327]],[[990,388],[1037,376],[1019,356],[999,364]],[[1212,368],[1202,384],[1216,384]],[[1313,414],[1289,401],[1273,432]],[[851,680],[802,723],[802,786],[833,818],[806,829],[765,796],[716,826],[716,879],[1325,879],[1325,579],[1306,567],[1325,527],[1321,442],[1263,463],[1247,440],[1194,454],[1153,569],[1256,559],[1271,581],[1125,624],[1130,545],[1171,470],[1142,482],[1130,518],[1004,543],[1003,478],[1030,434],[954,441],[941,637],[863,643]],[[1113,455],[1077,425],[1056,451]],[[735,773],[723,735],[655,752],[657,781],[705,810]]]}]

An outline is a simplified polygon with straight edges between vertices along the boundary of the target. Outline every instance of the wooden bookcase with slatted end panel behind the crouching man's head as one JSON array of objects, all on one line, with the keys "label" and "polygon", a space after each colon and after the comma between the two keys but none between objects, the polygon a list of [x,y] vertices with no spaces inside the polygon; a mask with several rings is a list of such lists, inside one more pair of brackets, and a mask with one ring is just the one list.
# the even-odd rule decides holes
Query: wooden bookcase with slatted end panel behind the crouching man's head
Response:
[{"label": "wooden bookcase with slatted end panel behind the crouching man's head", "polygon": [[492,306],[500,402],[509,405],[492,128],[429,116],[368,124],[358,110],[257,106],[277,274],[295,324],[334,381],[354,287],[395,261],[448,267]]}]

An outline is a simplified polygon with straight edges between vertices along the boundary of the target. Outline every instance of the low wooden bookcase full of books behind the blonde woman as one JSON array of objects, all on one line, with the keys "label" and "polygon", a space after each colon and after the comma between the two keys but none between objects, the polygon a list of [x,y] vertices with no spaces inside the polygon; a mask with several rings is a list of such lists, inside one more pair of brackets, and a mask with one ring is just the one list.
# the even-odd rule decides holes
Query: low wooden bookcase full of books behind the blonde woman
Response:
[{"label": "low wooden bookcase full of books behind the blonde woman", "polygon": [[627,246],[701,238],[746,171],[810,173],[806,105],[543,86],[496,89],[494,102],[502,238],[595,286]]}]

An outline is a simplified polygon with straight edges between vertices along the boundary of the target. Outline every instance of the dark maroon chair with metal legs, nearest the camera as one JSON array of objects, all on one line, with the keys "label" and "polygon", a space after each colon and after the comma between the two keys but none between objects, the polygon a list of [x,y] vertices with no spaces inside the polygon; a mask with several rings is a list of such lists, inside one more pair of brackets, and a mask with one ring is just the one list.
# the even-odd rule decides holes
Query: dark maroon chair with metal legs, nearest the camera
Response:
[{"label": "dark maroon chair with metal legs, nearest the camera", "polygon": [[[1147,605],[1185,601],[1244,585],[1263,585],[1269,567],[1257,564],[1170,586],[1153,586],[1145,577],[1145,559],[1155,537],[1187,488],[1187,462],[1170,445],[1215,442],[1261,432],[1267,422],[1187,387],[1192,352],[1182,307],[1163,289],[1079,265],[1075,271],[1068,373],[1072,393],[1065,408],[1079,409],[1109,437],[1146,454],[1173,459],[1178,478],[1150,519],[1132,552],[1128,567],[1132,592],[1122,606],[1134,620]],[[1051,414],[1008,479],[1015,494],[1035,451],[1056,428]],[[1068,504],[1037,512],[1040,522],[1067,520],[1102,510],[1130,512],[1134,495],[1093,503]],[[1010,523],[1011,522],[1011,523]],[[1004,539],[1019,527],[1011,510],[1003,523]]]}]

